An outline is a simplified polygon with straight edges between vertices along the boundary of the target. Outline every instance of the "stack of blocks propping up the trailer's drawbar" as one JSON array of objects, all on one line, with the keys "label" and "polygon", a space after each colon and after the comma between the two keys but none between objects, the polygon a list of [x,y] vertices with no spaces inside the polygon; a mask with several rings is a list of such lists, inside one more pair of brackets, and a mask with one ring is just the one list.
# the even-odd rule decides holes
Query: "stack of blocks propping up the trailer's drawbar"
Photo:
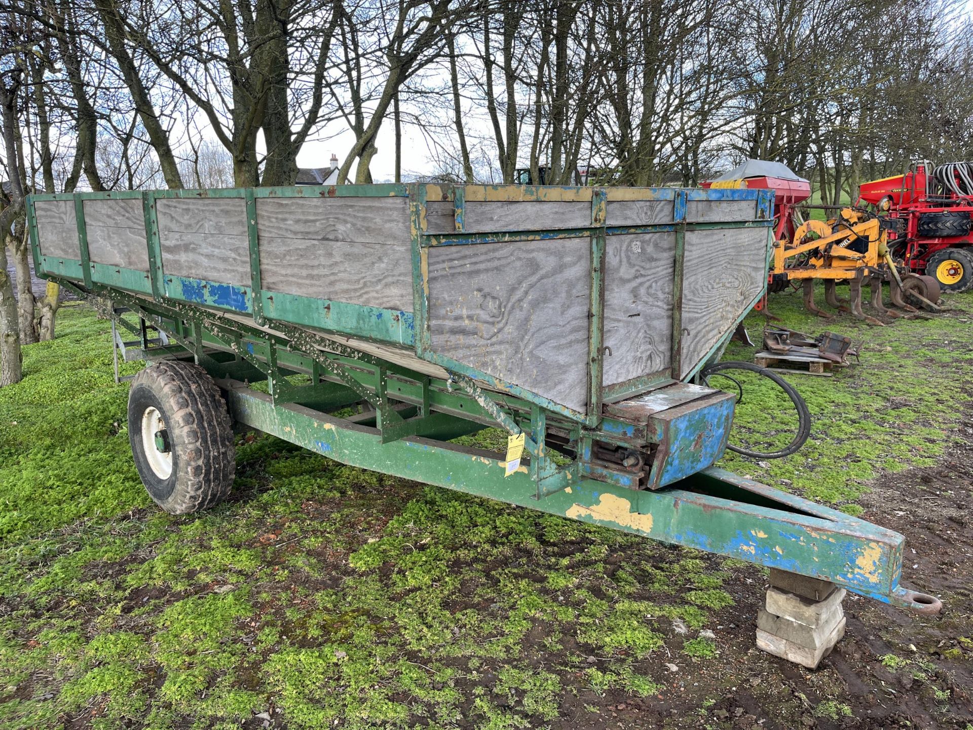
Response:
[{"label": "stack of blocks propping up the trailer's drawbar", "polygon": [[757,614],[757,646],[814,669],[845,636],[845,589],[771,569],[767,603]]}]

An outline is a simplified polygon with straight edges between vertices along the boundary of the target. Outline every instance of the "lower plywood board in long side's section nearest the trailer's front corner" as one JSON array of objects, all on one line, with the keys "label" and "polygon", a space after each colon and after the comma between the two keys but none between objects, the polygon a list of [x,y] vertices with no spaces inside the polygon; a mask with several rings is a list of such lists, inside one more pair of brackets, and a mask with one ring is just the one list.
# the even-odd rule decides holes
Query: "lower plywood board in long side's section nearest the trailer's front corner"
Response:
[{"label": "lower plywood board in long side's section nearest the trailer's front corner", "polygon": [[412,246],[261,237],[261,286],[348,304],[413,310]]}]

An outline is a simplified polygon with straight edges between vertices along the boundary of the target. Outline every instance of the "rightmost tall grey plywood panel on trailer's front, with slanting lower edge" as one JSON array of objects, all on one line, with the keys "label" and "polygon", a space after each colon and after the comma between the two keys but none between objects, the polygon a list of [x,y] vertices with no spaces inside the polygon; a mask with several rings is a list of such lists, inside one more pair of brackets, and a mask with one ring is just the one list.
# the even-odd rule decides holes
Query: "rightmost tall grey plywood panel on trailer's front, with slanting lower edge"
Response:
[{"label": "rightmost tall grey plywood panel on trailer's front, with slanting lower edge", "polygon": [[767,229],[686,232],[682,379],[726,335],[767,283]]}]

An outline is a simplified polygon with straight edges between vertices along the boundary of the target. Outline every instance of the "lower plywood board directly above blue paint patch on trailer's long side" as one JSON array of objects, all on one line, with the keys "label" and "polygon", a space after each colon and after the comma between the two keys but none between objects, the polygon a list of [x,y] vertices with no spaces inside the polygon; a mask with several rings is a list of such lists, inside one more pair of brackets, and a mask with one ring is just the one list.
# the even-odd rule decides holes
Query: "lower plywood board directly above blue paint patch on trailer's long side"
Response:
[{"label": "lower plywood board directly above blue paint patch on trailer's long side", "polygon": [[160,231],[162,271],[175,276],[249,286],[250,246],[246,236]]}]

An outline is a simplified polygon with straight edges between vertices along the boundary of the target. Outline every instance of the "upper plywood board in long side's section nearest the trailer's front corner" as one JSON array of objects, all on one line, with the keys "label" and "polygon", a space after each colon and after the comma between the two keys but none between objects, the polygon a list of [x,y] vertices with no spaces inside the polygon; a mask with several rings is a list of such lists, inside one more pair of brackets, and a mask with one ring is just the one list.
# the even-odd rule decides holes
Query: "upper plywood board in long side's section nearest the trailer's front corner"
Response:
[{"label": "upper plywood board in long side's section nearest the trailer's front corner", "polygon": [[307,240],[412,240],[407,198],[258,198],[257,230]]}]

